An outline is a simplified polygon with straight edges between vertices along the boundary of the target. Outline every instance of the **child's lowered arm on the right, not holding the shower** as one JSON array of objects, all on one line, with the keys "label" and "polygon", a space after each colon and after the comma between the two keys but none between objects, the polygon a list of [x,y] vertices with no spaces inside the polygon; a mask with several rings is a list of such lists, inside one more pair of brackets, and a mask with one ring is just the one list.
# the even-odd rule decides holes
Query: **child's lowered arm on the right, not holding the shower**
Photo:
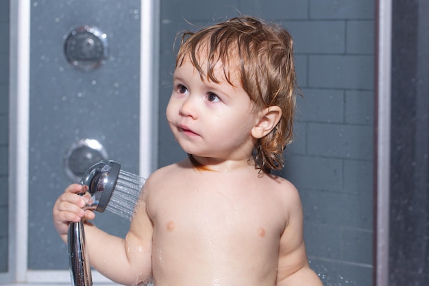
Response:
[{"label": "child's lowered arm on the right, not holding the shower", "polygon": [[310,269],[304,244],[302,204],[295,187],[288,189],[288,224],[280,238],[277,286],[323,286]]}]

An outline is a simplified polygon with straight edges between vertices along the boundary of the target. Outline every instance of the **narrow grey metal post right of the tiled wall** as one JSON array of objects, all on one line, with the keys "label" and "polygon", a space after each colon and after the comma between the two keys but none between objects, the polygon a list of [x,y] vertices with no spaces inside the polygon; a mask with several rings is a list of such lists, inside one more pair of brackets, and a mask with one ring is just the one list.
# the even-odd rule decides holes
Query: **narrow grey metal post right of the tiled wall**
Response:
[{"label": "narrow grey metal post right of the tiled wall", "polygon": [[376,11],[373,285],[389,286],[392,0],[378,0]]}]

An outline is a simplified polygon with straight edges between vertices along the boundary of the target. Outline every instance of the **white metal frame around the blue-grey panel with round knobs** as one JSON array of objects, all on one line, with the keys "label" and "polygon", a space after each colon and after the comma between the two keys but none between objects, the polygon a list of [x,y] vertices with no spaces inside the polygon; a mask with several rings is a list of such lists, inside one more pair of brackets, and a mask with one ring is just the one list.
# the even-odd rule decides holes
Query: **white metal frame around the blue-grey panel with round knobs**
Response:
[{"label": "white metal frame around the blue-grey panel with round knobs", "polygon": [[[30,0],[10,1],[9,267],[8,273],[0,274],[0,284],[70,285],[69,270],[27,269],[30,5]],[[141,0],[140,7],[140,86],[146,91],[149,86],[151,96],[143,96],[140,88],[139,168],[140,176],[147,178],[158,154],[158,104],[152,95],[158,94],[160,0]],[[114,285],[97,272],[93,281]]]}]

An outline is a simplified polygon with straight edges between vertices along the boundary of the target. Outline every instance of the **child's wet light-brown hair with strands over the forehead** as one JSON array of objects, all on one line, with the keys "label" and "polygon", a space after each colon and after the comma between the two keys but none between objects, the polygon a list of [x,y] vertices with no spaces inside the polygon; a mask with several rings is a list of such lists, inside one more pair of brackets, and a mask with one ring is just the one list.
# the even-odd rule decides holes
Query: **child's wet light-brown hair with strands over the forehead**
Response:
[{"label": "child's wet light-brown hair with strands over the forehead", "polygon": [[[183,32],[176,67],[185,59],[191,60],[202,80],[215,83],[225,79],[232,84],[230,73],[238,71],[241,86],[255,108],[279,106],[282,109],[278,124],[267,136],[257,140],[254,150],[256,164],[262,171],[281,169],[284,148],[293,140],[298,90],[291,34],[275,23],[240,16],[198,32]],[[215,77],[218,63],[223,68],[224,79]],[[203,64],[206,70],[202,69]]]}]

